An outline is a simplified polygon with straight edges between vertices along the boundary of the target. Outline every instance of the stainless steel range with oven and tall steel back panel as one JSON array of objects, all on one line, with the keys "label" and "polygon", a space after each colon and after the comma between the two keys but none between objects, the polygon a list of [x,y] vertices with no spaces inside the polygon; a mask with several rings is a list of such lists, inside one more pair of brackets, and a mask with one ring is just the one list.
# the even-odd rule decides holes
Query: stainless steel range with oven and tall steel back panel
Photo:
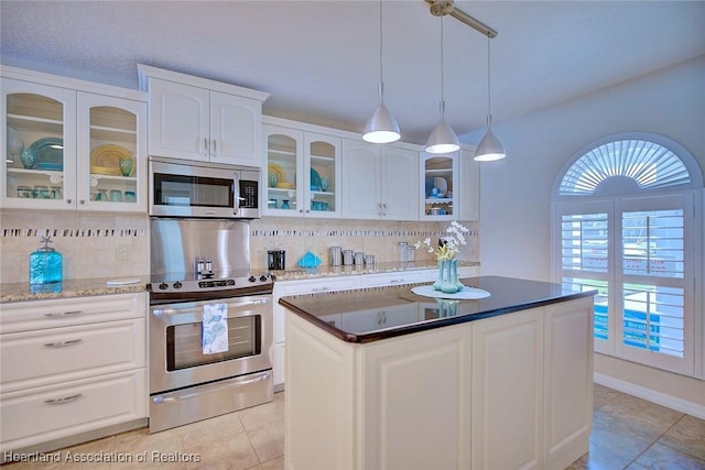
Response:
[{"label": "stainless steel range with oven and tall steel back panel", "polygon": [[[274,280],[250,271],[249,222],[150,226],[150,433],[272,401]],[[214,308],[227,317],[217,351],[206,348]]]}]

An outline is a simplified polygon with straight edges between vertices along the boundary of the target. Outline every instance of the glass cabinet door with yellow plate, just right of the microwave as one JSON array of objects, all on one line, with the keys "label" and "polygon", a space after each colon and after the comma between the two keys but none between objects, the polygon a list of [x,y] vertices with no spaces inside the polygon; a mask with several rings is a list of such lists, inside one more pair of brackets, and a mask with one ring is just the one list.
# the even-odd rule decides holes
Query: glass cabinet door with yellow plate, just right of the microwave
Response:
[{"label": "glass cabinet door with yellow plate, just right of the microwave", "polygon": [[264,125],[267,136],[267,209],[271,215],[300,215],[303,133]]}]

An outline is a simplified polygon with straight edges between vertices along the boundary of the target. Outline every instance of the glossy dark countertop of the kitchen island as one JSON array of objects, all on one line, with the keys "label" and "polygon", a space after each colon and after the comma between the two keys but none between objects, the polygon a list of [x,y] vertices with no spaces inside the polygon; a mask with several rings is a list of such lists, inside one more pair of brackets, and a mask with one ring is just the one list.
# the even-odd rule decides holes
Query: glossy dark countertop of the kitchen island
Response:
[{"label": "glossy dark countertop of the kitchen island", "polygon": [[462,280],[490,293],[473,300],[436,299],[411,292],[412,284],[282,297],[279,303],[347,342],[370,342],[519,310],[589,297],[561,284],[501,276]]}]

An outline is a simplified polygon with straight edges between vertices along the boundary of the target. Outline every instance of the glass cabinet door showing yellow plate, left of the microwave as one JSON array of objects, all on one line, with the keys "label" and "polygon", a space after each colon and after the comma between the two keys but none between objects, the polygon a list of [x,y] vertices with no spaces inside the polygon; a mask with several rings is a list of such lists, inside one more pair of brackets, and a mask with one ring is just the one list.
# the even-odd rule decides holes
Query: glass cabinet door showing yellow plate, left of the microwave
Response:
[{"label": "glass cabinet door showing yellow plate, left of the microwave", "polygon": [[145,194],[140,132],[144,103],[78,95],[79,208],[137,210]]}]

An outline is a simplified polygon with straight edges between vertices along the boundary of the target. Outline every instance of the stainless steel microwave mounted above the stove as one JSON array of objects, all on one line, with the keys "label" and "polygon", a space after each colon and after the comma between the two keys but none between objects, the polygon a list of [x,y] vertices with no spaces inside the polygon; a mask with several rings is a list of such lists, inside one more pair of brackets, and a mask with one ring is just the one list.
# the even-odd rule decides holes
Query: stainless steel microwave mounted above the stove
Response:
[{"label": "stainless steel microwave mounted above the stove", "polygon": [[259,219],[261,170],[150,156],[150,216]]}]

